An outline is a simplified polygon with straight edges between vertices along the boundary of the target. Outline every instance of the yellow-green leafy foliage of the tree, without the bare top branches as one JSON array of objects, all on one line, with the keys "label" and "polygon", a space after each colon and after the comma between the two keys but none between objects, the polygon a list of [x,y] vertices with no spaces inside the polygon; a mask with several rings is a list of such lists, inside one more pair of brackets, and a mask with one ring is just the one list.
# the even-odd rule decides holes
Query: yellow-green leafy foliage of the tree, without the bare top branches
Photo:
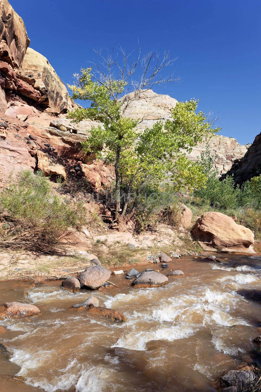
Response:
[{"label": "yellow-green leafy foliage of the tree, without the bare top branches", "polygon": [[[69,114],[76,122],[84,118],[98,119],[103,126],[92,127],[91,135],[82,143],[83,151],[95,151],[101,157],[101,147],[106,145],[107,164],[114,165],[116,174],[116,194],[120,190],[130,194],[139,192],[145,182],[159,184],[171,177],[173,187],[189,189],[199,187],[205,181],[200,165],[189,162],[185,152],[202,141],[204,136],[212,136],[219,128],[212,129],[203,112],[196,113],[198,100],[178,102],[172,111],[173,120],[163,126],[157,122],[152,128],[137,131],[139,120],[125,118],[120,99],[127,80],[110,78],[99,82],[91,68],[82,69],[76,75],[76,83],[70,85],[73,98],[87,100],[90,107],[76,109]],[[127,207],[124,203],[122,216]],[[120,205],[116,205],[119,212]]]}]

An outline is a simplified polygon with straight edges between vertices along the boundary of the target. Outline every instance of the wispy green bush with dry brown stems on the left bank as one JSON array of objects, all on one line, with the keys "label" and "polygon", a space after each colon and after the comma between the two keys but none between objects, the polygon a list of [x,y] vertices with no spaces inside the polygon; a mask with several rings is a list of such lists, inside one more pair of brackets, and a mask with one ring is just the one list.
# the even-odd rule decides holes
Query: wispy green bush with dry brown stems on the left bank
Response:
[{"label": "wispy green bush with dry brown stems on the left bank", "polygon": [[0,246],[59,253],[68,227],[85,223],[81,203],[65,204],[41,172],[21,171],[0,193]]}]

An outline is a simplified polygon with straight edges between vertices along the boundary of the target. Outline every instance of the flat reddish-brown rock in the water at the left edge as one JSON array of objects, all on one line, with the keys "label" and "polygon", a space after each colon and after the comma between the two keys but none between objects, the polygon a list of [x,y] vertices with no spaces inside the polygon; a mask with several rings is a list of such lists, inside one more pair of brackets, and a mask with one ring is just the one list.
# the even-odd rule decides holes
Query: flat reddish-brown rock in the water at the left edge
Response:
[{"label": "flat reddish-brown rock in the water at the left edge", "polygon": [[5,302],[0,306],[0,319],[38,316],[40,313],[38,307],[29,303]]}]

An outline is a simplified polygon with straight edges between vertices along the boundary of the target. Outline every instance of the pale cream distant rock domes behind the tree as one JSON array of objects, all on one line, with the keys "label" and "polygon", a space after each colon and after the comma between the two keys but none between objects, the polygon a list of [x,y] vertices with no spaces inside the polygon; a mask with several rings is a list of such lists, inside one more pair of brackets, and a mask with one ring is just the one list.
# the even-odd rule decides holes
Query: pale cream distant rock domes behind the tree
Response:
[{"label": "pale cream distant rock domes behind the tree", "polygon": [[[146,127],[152,127],[155,122],[161,120],[163,123],[171,119],[171,109],[176,106],[178,102],[175,98],[169,95],[156,94],[152,90],[140,91],[137,98],[129,102],[128,95],[124,98],[127,108],[125,115],[129,118],[140,119],[138,129],[142,130]],[[130,94],[133,98],[133,94]],[[215,167],[218,173],[228,171],[232,163],[240,159],[247,152],[249,145],[241,145],[234,138],[227,136],[215,135],[210,140],[205,140],[198,143],[190,154],[186,154],[191,161],[197,161],[202,151],[206,151],[206,146],[209,145],[209,150],[212,156],[216,157]]]}]

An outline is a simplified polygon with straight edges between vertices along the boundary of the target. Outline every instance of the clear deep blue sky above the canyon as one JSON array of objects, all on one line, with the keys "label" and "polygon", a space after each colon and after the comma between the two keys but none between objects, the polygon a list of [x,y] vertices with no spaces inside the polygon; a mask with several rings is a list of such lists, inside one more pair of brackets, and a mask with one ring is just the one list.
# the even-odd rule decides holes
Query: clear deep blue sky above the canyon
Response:
[{"label": "clear deep blue sky above the canyon", "polygon": [[181,82],[155,90],[221,117],[221,134],[252,143],[261,132],[260,0],[9,0],[31,47],[64,83],[93,60],[93,49],[120,44],[178,57]]}]

